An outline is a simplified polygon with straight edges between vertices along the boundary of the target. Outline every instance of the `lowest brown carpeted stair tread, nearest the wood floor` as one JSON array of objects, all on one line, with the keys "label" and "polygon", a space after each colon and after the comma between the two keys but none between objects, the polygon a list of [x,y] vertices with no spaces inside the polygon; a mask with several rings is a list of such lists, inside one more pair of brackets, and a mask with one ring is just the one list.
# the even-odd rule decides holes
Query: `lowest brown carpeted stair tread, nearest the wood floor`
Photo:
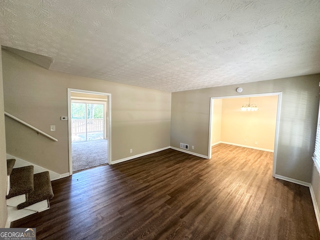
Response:
[{"label": "lowest brown carpeted stair tread, nearest the wood floor", "polygon": [[28,199],[17,205],[17,209],[30,206],[45,199],[53,197],[53,191],[48,171],[39,172],[33,175],[34,190],[29,193]]}]

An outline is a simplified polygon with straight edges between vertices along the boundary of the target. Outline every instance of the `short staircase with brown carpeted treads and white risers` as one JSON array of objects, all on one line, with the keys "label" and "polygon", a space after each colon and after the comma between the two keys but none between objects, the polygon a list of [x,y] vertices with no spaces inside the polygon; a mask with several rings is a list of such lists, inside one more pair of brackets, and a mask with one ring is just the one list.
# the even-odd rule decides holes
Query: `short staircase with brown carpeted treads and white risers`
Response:
[{"label": "short staircase with brown carpeted treads and white risers", "polygon": [[53,191],[48,171],[33,174],[33,166],[13,168],[15,159],[7,159],[8,221],[14,221],[49,208]]}]

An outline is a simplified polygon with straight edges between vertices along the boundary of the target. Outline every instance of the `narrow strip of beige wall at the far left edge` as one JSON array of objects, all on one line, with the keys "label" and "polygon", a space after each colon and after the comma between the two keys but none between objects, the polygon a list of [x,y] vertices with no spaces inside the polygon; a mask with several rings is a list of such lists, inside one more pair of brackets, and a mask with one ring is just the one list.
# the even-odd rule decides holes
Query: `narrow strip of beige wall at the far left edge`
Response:
[{"label": "narrow strip of beige wall at the far left edge", "polygon": [[0,227],[5,226],[7,218],[6,210],[6,156],[5,156],[5,130],[4,130],[4,110],[3,110],[3,85],[2,85],[2,57],[0,51]]}]

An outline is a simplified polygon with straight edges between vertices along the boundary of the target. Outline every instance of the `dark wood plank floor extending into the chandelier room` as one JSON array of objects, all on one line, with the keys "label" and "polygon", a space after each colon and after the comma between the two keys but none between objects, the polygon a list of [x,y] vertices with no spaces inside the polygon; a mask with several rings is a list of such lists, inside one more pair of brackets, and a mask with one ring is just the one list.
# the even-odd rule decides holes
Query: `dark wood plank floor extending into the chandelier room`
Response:
[{"label": "dark wood plank floor extending into the chandelier room", "polygon": [[52,181],[49,210],[11,223],[39,239],[320,239],[309,188],[271,176],[272,153],[173,149]]}]

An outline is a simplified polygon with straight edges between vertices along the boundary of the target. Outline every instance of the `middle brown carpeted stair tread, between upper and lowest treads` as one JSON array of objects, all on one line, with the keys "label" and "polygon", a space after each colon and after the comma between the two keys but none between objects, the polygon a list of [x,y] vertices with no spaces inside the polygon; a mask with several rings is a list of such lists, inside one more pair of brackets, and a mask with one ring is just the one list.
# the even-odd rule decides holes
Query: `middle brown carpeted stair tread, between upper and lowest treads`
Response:
[{"label": "middle brown carpeted stair tread, between upper and lowest treads", "polygon": [[33,191],[33,166],[13,168],[10,174],[10,191],[6,198]]}]

